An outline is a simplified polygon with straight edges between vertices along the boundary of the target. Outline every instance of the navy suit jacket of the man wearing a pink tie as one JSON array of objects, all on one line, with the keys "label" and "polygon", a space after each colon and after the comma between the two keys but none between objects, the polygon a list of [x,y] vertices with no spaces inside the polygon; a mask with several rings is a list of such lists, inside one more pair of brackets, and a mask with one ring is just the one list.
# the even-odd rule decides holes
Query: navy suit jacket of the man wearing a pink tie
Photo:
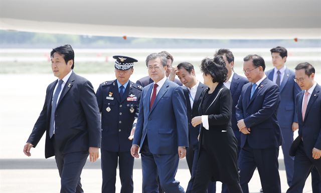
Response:
[{"label": "navy suit jacket of the man wearing a pink tie", "polygon": [[[316,84],[307,103],[304,121],[302,120],[302,100],[304,91],[296,96],[296,112],[298,115],[299,137],[303,139],[306,155],[312,158],[313,147],[321,149],[321,86]],[[321,159],[318,159],[321,161]]]}]

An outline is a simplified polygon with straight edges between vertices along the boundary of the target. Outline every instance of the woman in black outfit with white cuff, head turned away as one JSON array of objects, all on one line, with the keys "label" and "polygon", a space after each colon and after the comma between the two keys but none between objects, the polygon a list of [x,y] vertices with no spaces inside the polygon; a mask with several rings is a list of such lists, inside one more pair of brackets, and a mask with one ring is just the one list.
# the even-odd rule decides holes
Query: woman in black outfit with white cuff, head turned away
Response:
[{"label": "woman in black outfit with white cuff, head turned away", "polygon": [[243,192],[237,166],[237,140],[231,128],[232,96],[224,86],[227,69],[222,56],[204,59],[201,64],[204,84],[199,114],[193,126],[202,124],[200,151],[193,193],[205,193],[210,181],[225,183],[230,193]]}]

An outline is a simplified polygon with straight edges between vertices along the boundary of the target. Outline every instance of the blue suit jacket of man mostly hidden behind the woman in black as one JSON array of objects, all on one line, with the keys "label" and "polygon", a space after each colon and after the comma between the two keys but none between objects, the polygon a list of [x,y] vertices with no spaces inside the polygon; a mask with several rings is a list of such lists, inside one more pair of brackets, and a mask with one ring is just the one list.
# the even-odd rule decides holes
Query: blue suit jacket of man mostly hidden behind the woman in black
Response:
[{"label": "blue suit jacket of man mostly hidden behind the woman in black", "polygon": [[237,102],[239,101],[243,86],[248,82],[249,81],[245,77],[234,73],[234,75],[232,77],[231,86],[230,86],[230,91],[231,91],[232,99],[233,99],[233,103],[232,103],[232,129],[234,131],[235,137],[238,140],[238,144],[240,144],[240,142],[241,142],[241,132],[239,131],[239,128],[237,127],[235,107],[237,105]]}]

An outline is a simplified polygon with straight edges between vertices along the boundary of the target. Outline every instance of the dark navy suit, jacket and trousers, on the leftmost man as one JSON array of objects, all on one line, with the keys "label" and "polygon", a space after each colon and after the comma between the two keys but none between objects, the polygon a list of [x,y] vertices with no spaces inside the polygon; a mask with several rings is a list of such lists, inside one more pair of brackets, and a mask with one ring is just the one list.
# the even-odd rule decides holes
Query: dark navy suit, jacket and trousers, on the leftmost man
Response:
[{"label": "dark navy suit, jacket and trousers, on the leftmost man", "polygon": [[61,193],[83,192],[80,174],[89,147],[100,147],[100,118],[95,92],[85,78],[71,73],[55,111],[55,134],[49,137],[51,104],[57,80],[47,87],[44,107],[27,142],[34,147],[46,132],[45,157],[55,155]]}]

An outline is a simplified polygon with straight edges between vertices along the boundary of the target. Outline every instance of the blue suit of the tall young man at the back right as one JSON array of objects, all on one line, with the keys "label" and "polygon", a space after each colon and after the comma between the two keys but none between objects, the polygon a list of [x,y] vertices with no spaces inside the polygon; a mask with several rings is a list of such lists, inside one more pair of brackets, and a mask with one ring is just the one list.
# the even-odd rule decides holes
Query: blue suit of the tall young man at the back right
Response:
[{"label": "blue suit of the tall young man at the back right", "polygon": [[[265,72],[266,76],[271,81],[273,81],[274,70],[275,68]],[[289,149],[293,142],[292,123],[297,122],[295,97],[301,91],[300,87],[294,82],[294,77],[294,72],[285,68],[284,76],[280,85],[281,102],[277,110],[277,120],[281,127],[283,137],[282,151],[288,185],[291,184],[293,177],[294,157],[289,155]]]}]

